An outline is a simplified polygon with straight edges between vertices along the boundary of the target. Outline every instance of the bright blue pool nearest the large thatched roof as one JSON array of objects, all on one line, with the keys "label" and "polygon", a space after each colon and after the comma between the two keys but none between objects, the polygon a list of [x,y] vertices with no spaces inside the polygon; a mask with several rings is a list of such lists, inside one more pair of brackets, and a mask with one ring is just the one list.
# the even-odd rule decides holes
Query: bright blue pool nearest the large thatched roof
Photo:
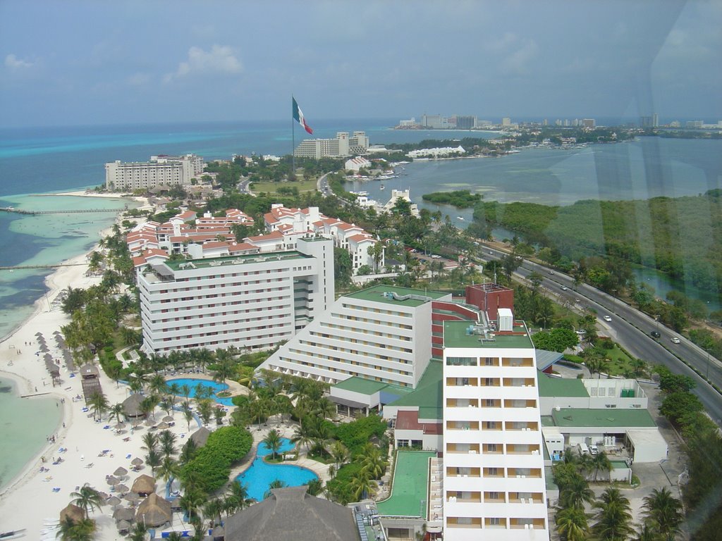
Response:
[{"label": "bright blue pool nearest the large thatched roof", "polygon": [[[281,448],[279,452],[287,452],[295,446],[290,439],[281,439]],[[318,479],[318,475],[305,467],[295,466],[291,464],[266,464],[264,457],[271,454],[271,450],[266,444],[258,444],[258,454],[253,464],[248,470],[238,475],[235,480],[243,485],[248,485],[248,497],[261,501],[264,494],[269,489],[269,485],[274,480],[281,480],[286,486],[301,486],[309,481]]]}]

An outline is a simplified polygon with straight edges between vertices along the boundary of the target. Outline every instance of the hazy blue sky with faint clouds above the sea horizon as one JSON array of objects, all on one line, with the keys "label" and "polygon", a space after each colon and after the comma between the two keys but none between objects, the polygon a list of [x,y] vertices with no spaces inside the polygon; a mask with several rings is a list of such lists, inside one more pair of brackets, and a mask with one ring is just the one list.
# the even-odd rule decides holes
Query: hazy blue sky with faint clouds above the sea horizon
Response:
[{"label": "hazy blue sky with faint clouds above the sea horizon", "polygon": [[722,120],[722,1],[0,0],[0,127]]}]

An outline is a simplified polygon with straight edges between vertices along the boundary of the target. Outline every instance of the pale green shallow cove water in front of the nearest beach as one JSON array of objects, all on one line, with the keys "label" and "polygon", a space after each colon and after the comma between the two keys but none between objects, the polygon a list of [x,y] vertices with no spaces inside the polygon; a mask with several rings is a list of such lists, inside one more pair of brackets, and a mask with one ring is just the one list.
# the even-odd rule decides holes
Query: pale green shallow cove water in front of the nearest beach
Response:
[{"label": "pale green shallow cove water in front of the nearest beach", "polygon": [[2,489],[45,447],[45,438],[56,432],[62,415],[58,400],[47,397],[20,398],[16,382],[8,378],[0,379],[0,412]]}]

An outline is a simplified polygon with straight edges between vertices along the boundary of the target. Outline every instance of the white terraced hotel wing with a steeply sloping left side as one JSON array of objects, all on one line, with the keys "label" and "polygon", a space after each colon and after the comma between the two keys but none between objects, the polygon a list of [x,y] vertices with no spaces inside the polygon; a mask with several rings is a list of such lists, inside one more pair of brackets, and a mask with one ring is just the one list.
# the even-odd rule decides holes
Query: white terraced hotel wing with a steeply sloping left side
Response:
[{"label": "white terraced hotel wing with a steeply sloping left side", "polygon": [[432,300],[451,294],[374,286],[342,296],[261,368],[336,384],[352,376],[416,387],[431,359]]}]

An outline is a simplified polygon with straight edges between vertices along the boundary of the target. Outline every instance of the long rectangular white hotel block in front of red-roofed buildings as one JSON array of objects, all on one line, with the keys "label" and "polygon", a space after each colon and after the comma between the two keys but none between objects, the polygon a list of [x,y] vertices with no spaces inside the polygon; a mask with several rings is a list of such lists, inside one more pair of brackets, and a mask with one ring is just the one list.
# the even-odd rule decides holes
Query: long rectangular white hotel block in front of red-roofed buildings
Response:
[{"label": "long rectangular white hotel block in front of red-roofed buildings", "polygon": [[145,353],[273,348],[334,302],[334,244],[143,265],[138,289]]}]

